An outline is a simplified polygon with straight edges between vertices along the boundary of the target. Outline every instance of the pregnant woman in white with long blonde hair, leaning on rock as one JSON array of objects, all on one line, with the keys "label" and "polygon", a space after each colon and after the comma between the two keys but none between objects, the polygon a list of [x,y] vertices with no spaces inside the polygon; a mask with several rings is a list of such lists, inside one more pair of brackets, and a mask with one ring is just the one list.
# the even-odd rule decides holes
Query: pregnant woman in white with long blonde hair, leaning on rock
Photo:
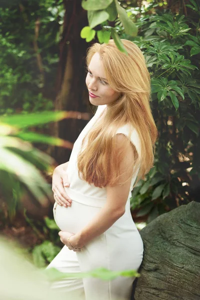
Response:
[{"label": "pregnant woman in white with long blonde hair, leaning on rock", "polygon": [[143,257],[130,197],[153,165],[157,129],[144,56],[133,42],[121,41],[127,55],[112,39],[88,49],[85,81],[97,110],[69,161],[53,172],[53,214],[64,246],[47,268],[77,273],[77,278],[57,280],[51,287],[85,300],[129,300],[134,277],[102,280],[78,278],[78,273],[98,267],[137,270]]}]

